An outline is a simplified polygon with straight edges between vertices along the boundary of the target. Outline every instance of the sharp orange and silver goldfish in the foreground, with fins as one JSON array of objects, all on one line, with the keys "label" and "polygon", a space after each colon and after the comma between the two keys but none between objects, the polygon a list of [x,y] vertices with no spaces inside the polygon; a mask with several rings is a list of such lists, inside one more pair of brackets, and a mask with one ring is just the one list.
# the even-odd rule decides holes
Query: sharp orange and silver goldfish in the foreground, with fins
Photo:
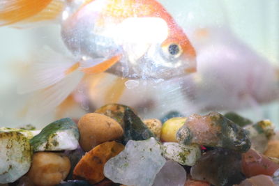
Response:
[{"label": "sharp orange and silver goldfish in the foreground, with fins", "polygon": [[193,45],[156,0],[1,0],[0,5],[0,26],[61,24],[71,54],[46,49],[18,87],[18,93],[36,93],[30,105],[41,113],[63,102],[84,75],[172,79],[196,70]]}]

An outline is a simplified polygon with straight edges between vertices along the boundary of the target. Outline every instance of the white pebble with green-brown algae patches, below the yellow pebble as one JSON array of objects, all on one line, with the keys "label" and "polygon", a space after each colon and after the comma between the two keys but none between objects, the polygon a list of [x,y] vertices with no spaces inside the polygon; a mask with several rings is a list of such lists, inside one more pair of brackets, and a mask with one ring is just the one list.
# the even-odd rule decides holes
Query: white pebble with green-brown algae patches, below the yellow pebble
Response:
[{"label": "white pebble with green-brown algae patches, below the yellow pebble", "polygon": [[183,144],[166,142],[163,144],[163,156],[179,164],[193,166],[201,157],[198,145],[184,146]]}]

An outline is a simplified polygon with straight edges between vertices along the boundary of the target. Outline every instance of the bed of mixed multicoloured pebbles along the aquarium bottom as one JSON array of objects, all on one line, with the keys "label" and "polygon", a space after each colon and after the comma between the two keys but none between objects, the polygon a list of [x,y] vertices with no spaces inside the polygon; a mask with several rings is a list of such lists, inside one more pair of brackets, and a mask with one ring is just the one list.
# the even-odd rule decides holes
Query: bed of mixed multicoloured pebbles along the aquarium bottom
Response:
[{"label": "bed of mixed multicoloured pebbles along the aquarium bottom", "polygon": [[0,149],[0,185],[279,184],[273,124],[232,112],[142,121],[107,104],[43,130],[1,127]]}]

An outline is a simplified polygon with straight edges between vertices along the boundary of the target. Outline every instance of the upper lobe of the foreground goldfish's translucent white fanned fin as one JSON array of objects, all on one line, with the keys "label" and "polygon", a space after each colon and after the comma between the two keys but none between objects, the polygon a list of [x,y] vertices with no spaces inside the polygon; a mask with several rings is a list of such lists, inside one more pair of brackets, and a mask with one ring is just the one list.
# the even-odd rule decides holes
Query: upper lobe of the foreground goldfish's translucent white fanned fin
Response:
[{"label": "upper lobe of the foreground goldfish's translucent white fanned fin", "polygon": [[37,91],[60,82],[71,72],[77,70],[79,62],[51,49],[43,50],[40,61],[31,64],[24,81],[17,86],[17,93]]}]

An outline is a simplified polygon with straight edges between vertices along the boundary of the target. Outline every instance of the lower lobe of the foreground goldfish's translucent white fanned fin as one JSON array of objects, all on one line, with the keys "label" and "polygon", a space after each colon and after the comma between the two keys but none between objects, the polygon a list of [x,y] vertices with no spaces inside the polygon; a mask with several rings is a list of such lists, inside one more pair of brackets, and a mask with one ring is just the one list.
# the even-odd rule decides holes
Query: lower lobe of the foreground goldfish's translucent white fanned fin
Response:
[{"label": "lower lobe of the foreground goldfish's translucent white fanned fin", "polygon": [[37,91],[30,100],[27,118],[40,117],[55,109],[77,88],[83,76],[84,73],[75,70],[60,82]]}]

